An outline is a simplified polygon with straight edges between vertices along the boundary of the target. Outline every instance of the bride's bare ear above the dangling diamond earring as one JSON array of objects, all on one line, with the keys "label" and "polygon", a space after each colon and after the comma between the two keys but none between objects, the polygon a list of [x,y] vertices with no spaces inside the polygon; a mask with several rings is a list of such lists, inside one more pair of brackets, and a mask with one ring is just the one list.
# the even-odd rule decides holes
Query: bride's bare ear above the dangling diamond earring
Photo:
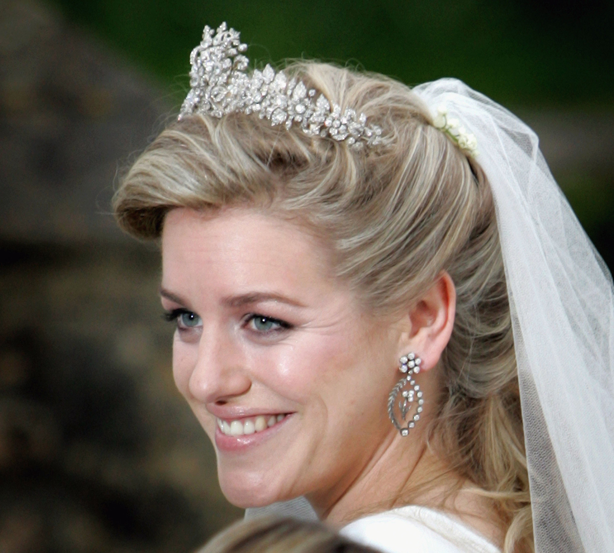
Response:
[{"label": "bride's bare ear above the dangling diamond earring", "polygon": [[455,313],[456,288],[450,275],[443,272],[403,318],[400,355],[413,351],[422,359],[422,371],[432,369],[448,345]]}]

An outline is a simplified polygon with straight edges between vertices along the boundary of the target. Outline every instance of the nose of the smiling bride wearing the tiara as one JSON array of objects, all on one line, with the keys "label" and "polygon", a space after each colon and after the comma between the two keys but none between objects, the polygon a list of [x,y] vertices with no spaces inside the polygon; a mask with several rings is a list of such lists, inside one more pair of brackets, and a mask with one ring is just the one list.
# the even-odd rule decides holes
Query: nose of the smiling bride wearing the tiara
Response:
[{"label": "nose of the smiling bride wearing the tiara", "polygon": [[188,391],[201,403],[227,402],[246,394],[252,381],[242,348],[223,331],[203,329]]}]

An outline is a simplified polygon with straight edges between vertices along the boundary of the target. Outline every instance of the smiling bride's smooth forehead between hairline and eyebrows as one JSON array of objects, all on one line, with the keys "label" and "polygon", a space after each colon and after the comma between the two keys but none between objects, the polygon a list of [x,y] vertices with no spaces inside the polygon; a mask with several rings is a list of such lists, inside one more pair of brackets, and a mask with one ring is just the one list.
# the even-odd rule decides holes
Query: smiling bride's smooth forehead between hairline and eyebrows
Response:
[{"label": "smiling bride's smooth forehead between hairline and eyebrows", "polygon": [[162,232],[165,287],[318,293],[332,286],[329,260],[327,248],[297,224],[244,208],[177,208],[167,214]]}]

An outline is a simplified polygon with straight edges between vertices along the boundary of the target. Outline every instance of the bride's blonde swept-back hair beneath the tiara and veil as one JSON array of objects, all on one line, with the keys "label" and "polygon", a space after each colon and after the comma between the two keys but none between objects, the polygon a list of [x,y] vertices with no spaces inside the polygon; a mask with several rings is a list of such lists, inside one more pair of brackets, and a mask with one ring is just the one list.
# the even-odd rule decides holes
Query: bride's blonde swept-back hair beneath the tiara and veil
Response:
[{"label": "bride's blonde swept-back hair beneath the tiara and veil", "polygon": [[533,551],[510,308],[483,171],[395,80],[307,62],[286,73],[365,113],[386,144],[357,152],[255,115],[186,117],[123,178],[114,200],[120,226],[157,238],[177,206],[272,210],[325,237],[336,275],[377,313],[408,305],[447,271],[456,320],[429,442],[451,473],[490,498],[504,551]]}]

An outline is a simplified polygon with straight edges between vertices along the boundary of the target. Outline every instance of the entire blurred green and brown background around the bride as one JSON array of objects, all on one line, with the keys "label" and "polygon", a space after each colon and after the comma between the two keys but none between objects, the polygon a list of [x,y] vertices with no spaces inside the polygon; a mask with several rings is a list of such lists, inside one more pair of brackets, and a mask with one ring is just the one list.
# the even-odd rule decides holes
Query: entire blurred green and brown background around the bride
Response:
[{"label": "entire blurred green and brown background around the bride", "polygon": [[535,128],[614,267],[605,0],[0,0],[0,551],[193,551],[240,517],[174,388],[159,259],[117,175],[172,119],[205,23],[255,65],[458,77]]}]

